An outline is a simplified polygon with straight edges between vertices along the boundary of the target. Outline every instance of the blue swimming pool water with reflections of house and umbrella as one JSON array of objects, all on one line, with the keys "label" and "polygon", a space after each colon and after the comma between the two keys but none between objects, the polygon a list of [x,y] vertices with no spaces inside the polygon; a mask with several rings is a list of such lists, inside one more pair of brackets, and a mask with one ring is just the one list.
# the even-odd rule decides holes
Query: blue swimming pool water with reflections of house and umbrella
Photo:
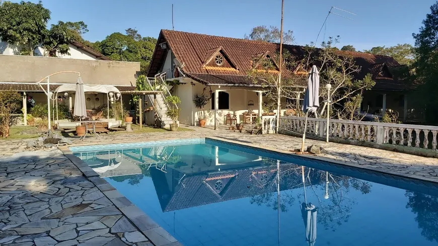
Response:
[{"label": "blue swimming pool water with reflections of house and umbrella", "polygon": [[71,149],[186,246],[438,244],[429,183],[211,139]]}]

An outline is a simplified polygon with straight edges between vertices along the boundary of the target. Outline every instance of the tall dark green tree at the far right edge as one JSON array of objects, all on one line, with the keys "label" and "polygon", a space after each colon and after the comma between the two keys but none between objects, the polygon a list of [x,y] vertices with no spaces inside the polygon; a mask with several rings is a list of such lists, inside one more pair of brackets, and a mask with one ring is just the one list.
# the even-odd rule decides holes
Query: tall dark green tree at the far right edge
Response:
[{"label": "tall dark green tree at the far right edge", "polygon": [[[418,81],[423,85],[419,87],[425,116],[428,123],[438,123],[438,2],[430,7],[430,14],[426,15],[423,26],[417,34],[412,34],[415,39],[416,61],[415,73]],[[423,107],[424,108],[424,107]]]}]

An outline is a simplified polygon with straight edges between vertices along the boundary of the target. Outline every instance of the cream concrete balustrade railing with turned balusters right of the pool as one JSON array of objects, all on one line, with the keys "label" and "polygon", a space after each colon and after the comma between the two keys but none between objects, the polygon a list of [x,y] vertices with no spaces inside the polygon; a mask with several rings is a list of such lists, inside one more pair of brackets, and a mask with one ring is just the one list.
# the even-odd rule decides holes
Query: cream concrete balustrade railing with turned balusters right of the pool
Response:
[{"label": "cream concrete balustrade railing with turned balusters right of the pool", "polygon": [[[263,118],[263,117],[262,117]],[[266,119],[269,121],[270,119]],[[329,137],[436,150],[437,126],[330,120]],[[305,118],[281,116],[278,133],[303,133]],[[275,126],[275,124],[274,124]],[[326,137],[327,119],[308,119],[306,134]],[[266,132],[268,133],[268,132]]]}]

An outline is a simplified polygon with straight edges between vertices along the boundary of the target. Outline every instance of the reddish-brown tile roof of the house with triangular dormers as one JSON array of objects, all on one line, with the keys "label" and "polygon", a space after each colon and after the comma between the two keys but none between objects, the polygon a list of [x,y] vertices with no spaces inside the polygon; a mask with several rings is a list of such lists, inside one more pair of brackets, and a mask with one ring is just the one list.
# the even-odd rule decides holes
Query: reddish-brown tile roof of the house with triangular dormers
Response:
[{"label": "reddish-brown tile roof of the house with triangular dormers", "polygon": [[[162,30],[149,68],[149,76],[154,76],[162,68],[167,50],[162,49],[159,44],[164,42],[167,42],[175,58],[185,63],[183,68],[185,74],[207,85],[254,85],[246,77],[248,70],[253,68],[254,58],[260,57],[266,52],[273,55],[279,50],[279,44],[277,43]],[[206,69],[203,67],[206,59],[217,51],[219,47],[226,51],[227,56],[239,69]],[[296,57],[306,54],[305,47],[303,46],[284,45],[283,47]],[[390,88],[391,90],[399,90],[403,84],[393,78],[381,79],[377,77],[382,69],[382,65],[379,64],[386,64],[388,67],[400,65],[390,56],[352,51],[337,51],[337,54],[352,57],[356,65],[361,67],[359,74],[355,75],[356,79],[362,79],[366,74],[372,73],[377,83],[374,89],[388,90]],[[294,73],[283,68],[282,75],[287,78],[294,76]],[[387,85],[378,86],[381,84]]]}]

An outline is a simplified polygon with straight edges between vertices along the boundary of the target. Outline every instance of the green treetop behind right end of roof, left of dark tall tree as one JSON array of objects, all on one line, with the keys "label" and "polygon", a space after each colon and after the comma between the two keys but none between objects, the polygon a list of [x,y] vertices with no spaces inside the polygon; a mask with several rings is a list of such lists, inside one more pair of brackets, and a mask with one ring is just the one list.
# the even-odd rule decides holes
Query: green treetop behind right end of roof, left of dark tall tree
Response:
[{"label": "green treetop behind right end of roof, left of dark tall tree", "polygon": [[415,59],[414,48],[410,44],[397,44],[391,47],[377,46],[370,50],[363,50],[363,52],[391,56],[402,65],[411,65]]}]

